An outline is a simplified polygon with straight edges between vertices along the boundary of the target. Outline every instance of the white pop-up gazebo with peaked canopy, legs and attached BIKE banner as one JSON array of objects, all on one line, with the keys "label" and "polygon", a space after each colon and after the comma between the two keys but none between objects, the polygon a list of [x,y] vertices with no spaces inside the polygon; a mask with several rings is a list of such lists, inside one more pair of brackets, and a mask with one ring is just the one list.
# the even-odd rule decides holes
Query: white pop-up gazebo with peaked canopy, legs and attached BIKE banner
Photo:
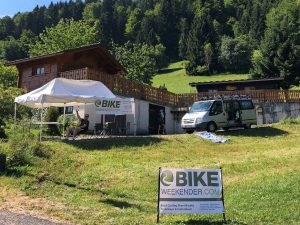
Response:
[{"label": "white pop-up gazebo with peaked canopy, legs and attached BIKE banner", "polygon": [[[16,122],[16,103],[28,106],[30,108],[41,109],[50,106],[64,107],[64,116],[66,106],[81,104],[95,104],[96,101],[118,101],[118,108],[113,108],[114,104],[109,107],[99,107],[98,111],[103,110],[105,113],[132,114],[132,99],[117,98],[103,83],[93,80],[71,80],[65,78],[56,78],[44,86],[33,90],[24,95],[15,98],[15,122]],[[130,103],[130,106],[128,105]],[[40,118],[40,140],[42,137],[43,116]]]}]

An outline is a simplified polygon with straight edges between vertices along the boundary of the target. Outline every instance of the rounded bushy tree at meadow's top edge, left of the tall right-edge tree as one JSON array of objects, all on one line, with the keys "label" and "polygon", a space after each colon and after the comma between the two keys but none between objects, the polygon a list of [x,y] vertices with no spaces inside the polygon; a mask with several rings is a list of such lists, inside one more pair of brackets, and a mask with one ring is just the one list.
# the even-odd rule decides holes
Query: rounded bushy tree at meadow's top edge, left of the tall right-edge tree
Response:
[{"label": "rounded bushy tree at meadow's top edge, left of the tall right-edge tree", "polygon": [[251,48],[247,41],[224,36],[221,41],[220,63],[231,72],[248,72],[251,65]]}]

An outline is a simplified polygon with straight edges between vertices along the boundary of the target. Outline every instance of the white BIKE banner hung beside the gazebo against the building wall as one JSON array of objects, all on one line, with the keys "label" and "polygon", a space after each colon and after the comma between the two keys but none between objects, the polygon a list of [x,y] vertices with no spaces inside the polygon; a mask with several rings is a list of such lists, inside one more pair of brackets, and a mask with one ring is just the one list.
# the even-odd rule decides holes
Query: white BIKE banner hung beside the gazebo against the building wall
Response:
[{"label": "white BIKE banner hung beside the gazebo against the building wall", "polygon": [[95,101],[97,114],[132,114],[133,99],[103,98]]}]

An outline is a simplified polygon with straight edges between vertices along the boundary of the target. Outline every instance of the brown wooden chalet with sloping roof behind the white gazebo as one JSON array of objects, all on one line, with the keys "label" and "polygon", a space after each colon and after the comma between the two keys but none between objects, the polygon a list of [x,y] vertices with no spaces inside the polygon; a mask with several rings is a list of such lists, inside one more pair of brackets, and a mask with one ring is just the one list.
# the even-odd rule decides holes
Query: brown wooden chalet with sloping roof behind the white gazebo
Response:
[{"label": "brown wooden chalet with sloping roof behind the white gazebo", "polygon": [[[89,68],[102,75],[126,74],[122,65],[100,44],[87,45],[8,63],[19,70],[18,86],[27,91],[41,87],[57,77],[91,79],[81,69]],[[97,77],[94,77],[97,80]]]}]

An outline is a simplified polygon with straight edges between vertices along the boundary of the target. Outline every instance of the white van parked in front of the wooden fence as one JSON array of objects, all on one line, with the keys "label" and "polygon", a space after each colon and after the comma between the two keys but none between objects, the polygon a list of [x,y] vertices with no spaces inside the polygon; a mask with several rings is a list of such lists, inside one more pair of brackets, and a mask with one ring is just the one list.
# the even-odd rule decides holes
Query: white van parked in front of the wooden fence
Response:
[{"label": "white van parked in front of the wooden fence", "polygon": [[195,102],[181,120],[187,133],[195,130],[214,132],[219,128],[250,128],[256,124],[256,112],[250,98],[218,97]]}]

